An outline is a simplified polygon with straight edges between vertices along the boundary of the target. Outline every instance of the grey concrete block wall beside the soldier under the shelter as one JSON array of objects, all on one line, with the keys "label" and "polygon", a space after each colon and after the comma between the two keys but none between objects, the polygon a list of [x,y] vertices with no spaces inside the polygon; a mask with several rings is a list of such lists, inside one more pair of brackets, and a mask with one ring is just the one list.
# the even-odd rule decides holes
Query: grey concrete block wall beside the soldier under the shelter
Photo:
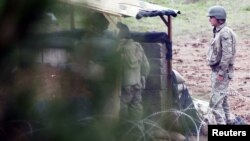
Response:
[{"label": "grey concrete block wall beside the soldier under the shelter", "polygon": [[150,63],[150,73],[143,91],[144,116],[161,111],[161,97],[166,92],[166,47],[160,43],[141,43]]}]

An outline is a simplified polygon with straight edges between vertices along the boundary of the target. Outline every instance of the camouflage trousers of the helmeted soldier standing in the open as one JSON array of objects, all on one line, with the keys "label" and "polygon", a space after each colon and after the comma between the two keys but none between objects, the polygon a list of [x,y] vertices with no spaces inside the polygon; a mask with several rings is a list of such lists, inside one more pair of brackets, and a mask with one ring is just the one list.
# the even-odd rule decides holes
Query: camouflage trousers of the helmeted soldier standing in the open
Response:
[{"label": "camouflage trousers of the helmeted soldier standing in the open", "polygon": [[227,91],[230,79],[225,74],[222,81],[217,80],[218,73],[212,72],[212,91],[209,106],[213,109],[213,114],[217,124],[226,124],[230,121],[230,110],[227,100]]}]

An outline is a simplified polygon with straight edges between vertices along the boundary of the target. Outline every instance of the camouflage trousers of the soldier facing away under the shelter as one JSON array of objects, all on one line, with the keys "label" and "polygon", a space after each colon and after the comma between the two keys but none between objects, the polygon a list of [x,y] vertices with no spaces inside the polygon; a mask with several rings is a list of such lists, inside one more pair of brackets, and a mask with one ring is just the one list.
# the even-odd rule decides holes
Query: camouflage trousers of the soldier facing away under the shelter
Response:
[{"label": "camouflage trousers of the soldier facing away under the shelter", "polygon": [[120,97],[120,117],[138,121],[142,118],[142,96],[139,85],[123,87]]}]

